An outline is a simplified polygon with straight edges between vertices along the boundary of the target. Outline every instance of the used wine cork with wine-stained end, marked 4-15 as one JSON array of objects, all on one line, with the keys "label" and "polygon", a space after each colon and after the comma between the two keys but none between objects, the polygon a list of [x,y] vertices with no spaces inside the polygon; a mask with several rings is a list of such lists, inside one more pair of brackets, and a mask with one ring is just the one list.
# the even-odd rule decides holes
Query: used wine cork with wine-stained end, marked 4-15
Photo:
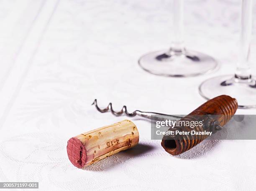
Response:
[{"label": "used wine cork with wine-stained end, marked 4-15", "polygon": [[77,168],[84,168],[120,151],[136,146],[138,129],[130,120],[81,133],[67,142],[67,154]]}]

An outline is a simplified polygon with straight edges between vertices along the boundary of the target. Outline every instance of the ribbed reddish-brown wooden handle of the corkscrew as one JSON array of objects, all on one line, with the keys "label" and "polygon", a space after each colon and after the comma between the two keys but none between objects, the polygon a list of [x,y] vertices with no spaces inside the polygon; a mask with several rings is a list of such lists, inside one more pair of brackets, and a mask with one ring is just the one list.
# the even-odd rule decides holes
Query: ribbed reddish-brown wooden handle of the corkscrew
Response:
[{"label": "ribbed reddish-brown wooden handle of the corkscrew", "polygon": [[[208,121],[209,116],[215,116],[212,121],[210,121],[211,127],[214,129],[214,126],[224,126],[236,113],[238,108],[238,103],[235,98],[231,98],[228,95],[220,95],[216,98],[213,98],[197,109],[189,113],[187,116],[182,118],[182,121]],[[169,128],[169,131],[197,131],[202,132],[204,131],[204,126],[195,126],[195,128],[187,128],[184,126],[174,126],[174,128]],[[196,146],[198,143],[203,141],[209,135],[182,135],[177,138],[170,135],[164,136],[161,142],[162,147],[165,149],[166,152],[172,155],[179,155],[185,151],[188,151],[190,148]]]}]

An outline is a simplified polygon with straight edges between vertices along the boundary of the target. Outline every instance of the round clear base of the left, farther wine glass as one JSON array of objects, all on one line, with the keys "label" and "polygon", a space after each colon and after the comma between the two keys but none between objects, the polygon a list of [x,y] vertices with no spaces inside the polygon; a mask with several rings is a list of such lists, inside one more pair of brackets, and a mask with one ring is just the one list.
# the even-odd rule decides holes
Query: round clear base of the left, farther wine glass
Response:
[{"label": "round clear base of the left, farther wine glass", "polygon": [[138,63],[149,73],[172,77],[189,77],[209,73],[217,67],[217,62],[209,55],[184,50],[180,54],[170,54],[168,50],[143,55]]}]

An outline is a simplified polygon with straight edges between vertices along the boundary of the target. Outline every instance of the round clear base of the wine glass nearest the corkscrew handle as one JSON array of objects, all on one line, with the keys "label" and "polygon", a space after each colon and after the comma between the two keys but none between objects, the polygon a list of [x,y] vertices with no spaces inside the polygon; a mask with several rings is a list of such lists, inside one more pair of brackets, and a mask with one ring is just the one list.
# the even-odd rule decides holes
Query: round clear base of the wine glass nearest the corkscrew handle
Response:
[{"label": "round clear base of the wine glass nearest the corkscrew handle", "polygon": [[234,75],[223,75],[210,78],[199,86],[199,93],[206,99],[218,95],[230,95],[236,98],[239,108],[256,108],[256,78],[240,80]]}]

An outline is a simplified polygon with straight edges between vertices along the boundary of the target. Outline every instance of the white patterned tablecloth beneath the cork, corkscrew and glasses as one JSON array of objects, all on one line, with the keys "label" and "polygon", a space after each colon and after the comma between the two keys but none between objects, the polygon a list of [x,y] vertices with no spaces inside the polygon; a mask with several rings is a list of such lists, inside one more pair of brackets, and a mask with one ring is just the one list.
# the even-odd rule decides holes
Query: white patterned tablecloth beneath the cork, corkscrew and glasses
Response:
[{"label": "white patterned tablecloth beneath the cork, corkscrew and glasses", "polygon": [[[141,55],[169,47],[171,6],[0,1],[0,181],[39,181],[40,190],[256,189],[256,141],[204,141],[174,157],[151,140],[150,122],[140,118],[130,118],[140,133],[137,147],[86,170],[67,158],[69,138],[127,118],[97,112],[95,98],[116,110],[125,104],[128,111],[186,114],[205,102],[197,90],[203,80],[234,72],[240,0],[185,0],[186,45],[214,56],[217,72],[166,78],[139,68]],[[253,63],[255,36],[251,52]]]}]

